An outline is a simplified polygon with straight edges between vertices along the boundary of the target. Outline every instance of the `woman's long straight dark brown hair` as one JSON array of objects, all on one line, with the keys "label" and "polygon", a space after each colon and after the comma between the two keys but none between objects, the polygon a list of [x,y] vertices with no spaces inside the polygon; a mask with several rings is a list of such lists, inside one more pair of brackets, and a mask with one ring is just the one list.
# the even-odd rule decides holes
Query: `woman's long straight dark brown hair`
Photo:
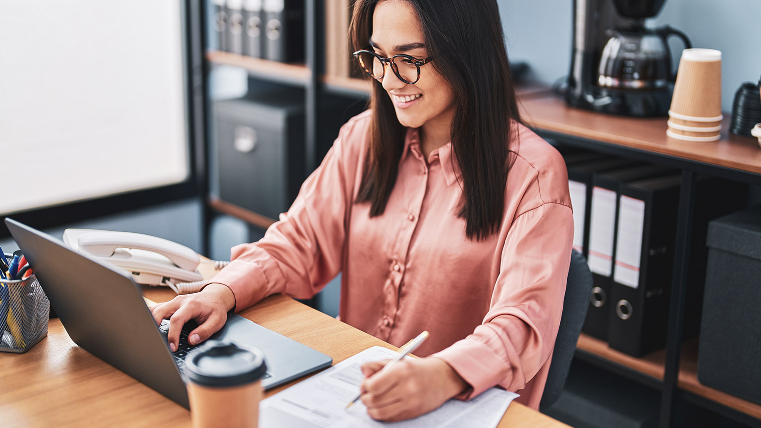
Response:
[{"label": "woman's long straight dark brown hair", "polygon": [[[356,0],[351,30],[354,50],[368,45],[375,5],[382,1]],[[498,231],[505,209],[508,142],[517,141],[511,138],[511,120],[520,122],[497,2],[405,1],[417,11],[425,49],[435,58],[425,67],[435,67],[454,94],[451,141],[463,189],[457,216],[466,221],[467,238],[489,238]],[[371,217],[386,209],[406,133],[383,85],[372,80],[369,147],[357,197],[357,203],[371,203]]]}]

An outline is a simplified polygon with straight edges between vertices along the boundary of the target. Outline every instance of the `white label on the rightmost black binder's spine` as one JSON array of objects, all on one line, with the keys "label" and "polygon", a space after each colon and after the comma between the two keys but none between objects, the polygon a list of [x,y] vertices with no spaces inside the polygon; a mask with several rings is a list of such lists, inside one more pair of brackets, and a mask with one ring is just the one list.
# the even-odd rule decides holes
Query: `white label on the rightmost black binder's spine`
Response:
[{"label": "white label on the rightmost black binder's spine", "polygon": [[621,196],[619,202],[619,234],[613,280],[637,288],[642,257],[642,233],[645,231],[645,201]]}]

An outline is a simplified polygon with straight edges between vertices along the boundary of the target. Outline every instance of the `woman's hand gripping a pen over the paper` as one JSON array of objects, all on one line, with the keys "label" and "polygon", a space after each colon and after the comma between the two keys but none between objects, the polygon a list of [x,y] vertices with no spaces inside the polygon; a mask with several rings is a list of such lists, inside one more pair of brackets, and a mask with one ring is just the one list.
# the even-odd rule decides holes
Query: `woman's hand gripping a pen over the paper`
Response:
[{"label": "woman's hand gripping a pen over the paper", "polygon": [[361,400],[375,420],[395,422],[437,409],[468,388],[443,359],[403,359],[380,372],[389,360],[362,365]]}]

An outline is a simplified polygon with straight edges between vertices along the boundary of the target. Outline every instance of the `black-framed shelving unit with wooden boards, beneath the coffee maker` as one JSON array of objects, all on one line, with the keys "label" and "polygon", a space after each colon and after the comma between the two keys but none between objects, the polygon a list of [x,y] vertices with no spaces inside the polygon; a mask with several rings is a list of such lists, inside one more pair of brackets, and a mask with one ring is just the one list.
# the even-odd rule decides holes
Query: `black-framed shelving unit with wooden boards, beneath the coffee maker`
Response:
[{"label": "black-framed shelving unit with wooden boards, beneath the coffee maker", "polygon": [[[664,164],[682,170],[677,251],[672,281],[667,347],[633,358],[582,334],[578,357],[603,369],[633,378],[661,391],[661,426],[671,426],[674,407],[689,401],[725,417],[761,426],[761,405],[702,385],[697,380],[697,340],[682,343],[689,235],[692,231],[696,174],[708,174],[747,184],[761,184],[761,149],[756,139],[729,135],[718,142],[694,143],[666,136],[665,118],[607,116],[567,107],[559,97],[521,100],[527,125],[546,139],[610,155]],[[728,129],[729,117],[724,117]]]}]

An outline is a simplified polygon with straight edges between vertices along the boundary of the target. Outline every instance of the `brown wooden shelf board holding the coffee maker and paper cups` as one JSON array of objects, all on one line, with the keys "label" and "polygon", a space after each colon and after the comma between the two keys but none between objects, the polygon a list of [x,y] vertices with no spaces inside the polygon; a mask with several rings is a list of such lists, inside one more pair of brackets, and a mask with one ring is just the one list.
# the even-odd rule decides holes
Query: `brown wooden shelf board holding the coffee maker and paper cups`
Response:
[{"label": "brown wooden shelf board holding the coffee maker and paper cups", "polygon": [[536,129],[670,155],[689,161],[761,174],[761,149],[755,138],[731,135],[729,115],[716,142],[686,142],[666,136],[667,118],[635,118],[568,107],[561,98],[521,98],[521,115]]}]

